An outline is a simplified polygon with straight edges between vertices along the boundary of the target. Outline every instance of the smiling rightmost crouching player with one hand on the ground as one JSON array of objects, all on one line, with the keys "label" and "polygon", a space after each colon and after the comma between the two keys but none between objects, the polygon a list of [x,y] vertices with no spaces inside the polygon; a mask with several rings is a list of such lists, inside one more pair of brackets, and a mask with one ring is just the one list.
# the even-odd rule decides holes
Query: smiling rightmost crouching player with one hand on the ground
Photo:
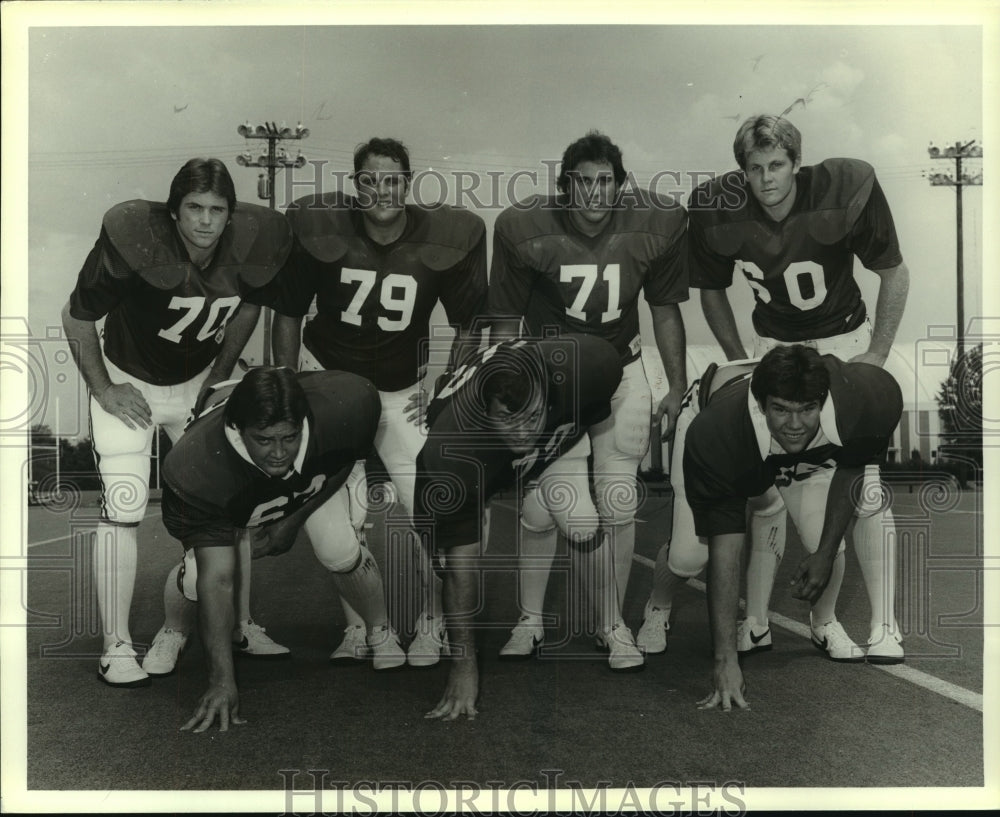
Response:
[{"label": "smiling rightmost crouching player with one hand on the ground", "polygon": [[[884,369],[802,344],[772,349],[752,374],[729,368],[739,376],[720,369],[703,379],[706,394],[685,409],[707,403],[690,421],[683,455],[687,504],[707,542],[694,547],[709,565],[715,656],[715,689],[699,705],[726,710],[747,705],[736,640],[747,500],[770,487],[780,492],[809,551],[792,595],[815,604],[843,560],[847,529],[882,504],[881,491],[866,490],[865,470],[884,455],[903,410],[899,384]],[[813,643],[829,652],[832,634],[813,614],[810,624]],[[838,660],[864,659],[854,646]]]}]

